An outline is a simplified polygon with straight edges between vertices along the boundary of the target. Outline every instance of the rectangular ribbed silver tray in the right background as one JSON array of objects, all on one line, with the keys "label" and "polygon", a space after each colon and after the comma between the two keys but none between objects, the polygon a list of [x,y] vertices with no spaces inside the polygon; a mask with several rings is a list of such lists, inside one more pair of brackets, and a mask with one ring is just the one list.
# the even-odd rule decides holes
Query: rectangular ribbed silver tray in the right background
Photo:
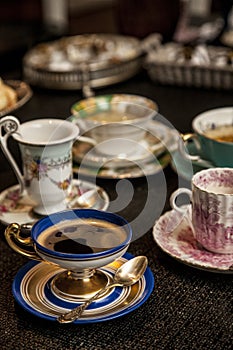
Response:
[{"label": "rectangular ribbed silver tray in the right background", "polygon": [[[145,60],[145,69],[151,80],[164,85],[203,87],[231,90],[233,88],[232,51],[224,47],[205,46],[209,61],[199,62],[180,60],[180,44],[168,43],[149,52]],[[172,52],[173,59],[169,59]],[[170,56],[171,57],[171,56]],[[225,60],[231,59],[227,64]],[[220,62],[222,60],[222,62]]]}]

